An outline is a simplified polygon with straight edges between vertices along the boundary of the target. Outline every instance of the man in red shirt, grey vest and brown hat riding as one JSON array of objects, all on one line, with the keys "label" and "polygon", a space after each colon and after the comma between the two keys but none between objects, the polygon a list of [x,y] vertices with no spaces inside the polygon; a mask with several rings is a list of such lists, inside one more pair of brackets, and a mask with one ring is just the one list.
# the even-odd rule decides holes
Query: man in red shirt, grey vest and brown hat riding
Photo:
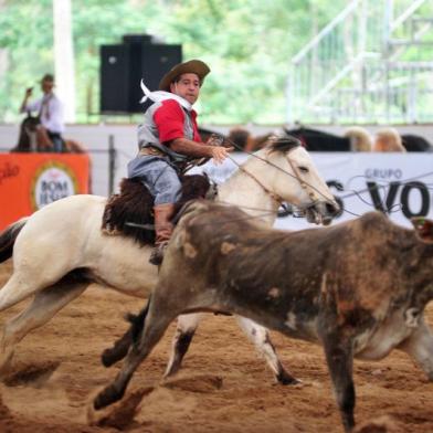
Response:
[{"label": "man in red shirt, grey vest and brown hat riding", "polygon": [[138,155],[128,163],[128,178],[139,179],[155,198],[156,242],[149,262],[159,265],[171,236],[170,218],[181,189],[182,167],[197,158],[213,158],[221,163],[232,149],[219,146],[211,137],[202,142],[198,131],[197,102],[209,66],[191,60],[173,66],[159,83],[159,92],[149,92],[141,83],[145,97],[150,99],[138,127]]}]

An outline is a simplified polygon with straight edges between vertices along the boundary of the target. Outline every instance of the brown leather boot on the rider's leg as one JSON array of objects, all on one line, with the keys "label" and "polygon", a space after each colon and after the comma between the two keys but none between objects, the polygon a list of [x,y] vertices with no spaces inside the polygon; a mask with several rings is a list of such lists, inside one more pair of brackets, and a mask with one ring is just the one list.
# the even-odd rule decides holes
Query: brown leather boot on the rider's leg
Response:
[{"label": "brown leather boot on the rider's leg", "polygon": [[175,204],[165,203],[154,207],[156,240],[154,250],[150,253],[149,262],[152,265],[160,265],[163,258],[163,251],[173,231],[170,222],[175,211]]}]

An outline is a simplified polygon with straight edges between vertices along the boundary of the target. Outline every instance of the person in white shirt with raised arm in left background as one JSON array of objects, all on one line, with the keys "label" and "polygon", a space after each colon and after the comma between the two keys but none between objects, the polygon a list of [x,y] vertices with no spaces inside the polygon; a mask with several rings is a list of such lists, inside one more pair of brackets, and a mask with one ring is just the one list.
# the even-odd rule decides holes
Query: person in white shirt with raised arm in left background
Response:
[{"label": "person in white shirt with raised arm in left background", "polygon": [[54,151],[63,151],[64,131],[63,104],[53,92],[54,76],[45,74],[41,80],[43,96],[34,102],[29,102],[33,93],[33,87],[25,91],[24,99],[21,104],[20,113],[38,112],[41,120],[40,131],[43,138],[53,144]]}]

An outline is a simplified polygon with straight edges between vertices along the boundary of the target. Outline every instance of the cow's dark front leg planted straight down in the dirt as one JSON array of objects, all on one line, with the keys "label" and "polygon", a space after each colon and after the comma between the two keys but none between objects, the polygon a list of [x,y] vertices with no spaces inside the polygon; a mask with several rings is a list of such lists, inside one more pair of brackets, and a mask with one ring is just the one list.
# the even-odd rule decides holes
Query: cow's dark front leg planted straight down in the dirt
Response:
[{"label": "cow's dark front leg planted straight down in the dirt", "polygon": [[351,341],[344,340],[338,334],[332,332],[324,335],[323,342],[342,425],[345,432],[351,432],[355,426],[353,353]]}]

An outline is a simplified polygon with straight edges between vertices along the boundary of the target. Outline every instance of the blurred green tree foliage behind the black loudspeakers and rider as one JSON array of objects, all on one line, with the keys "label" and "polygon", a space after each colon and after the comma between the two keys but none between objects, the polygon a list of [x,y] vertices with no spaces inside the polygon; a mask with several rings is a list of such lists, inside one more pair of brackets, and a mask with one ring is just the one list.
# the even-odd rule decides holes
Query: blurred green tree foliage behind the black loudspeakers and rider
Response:
[{"label": "blurred green tree foliage behind the black loudspeakers and rider", "polygon": [[[18,119],[25,87],[53,71],[51,0],[6,0],[0,49],[8,67],[0,83],[0,118]],[[73,0],[77,110],[98,120],[99,46],[124,34],[154,34],[182,44],[183,59],[212,68],[199,110],[205,123],[285,120],[291,57],[345,0]],[[139,95],[137,95],[139,97]]]}]

